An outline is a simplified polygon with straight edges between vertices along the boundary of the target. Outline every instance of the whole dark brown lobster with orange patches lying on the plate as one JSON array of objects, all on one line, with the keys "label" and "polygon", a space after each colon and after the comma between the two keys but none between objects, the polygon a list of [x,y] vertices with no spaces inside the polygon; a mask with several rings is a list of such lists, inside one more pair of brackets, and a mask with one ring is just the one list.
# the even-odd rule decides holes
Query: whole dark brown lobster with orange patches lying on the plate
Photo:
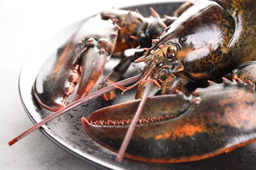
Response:
[{"label": "whole dark brown lobster with orange patches lying on the plate", "polygon": [[[112,10],[91,18],[68,41],[56,61],[49,60],[52,69],[43,66],[35,81],[38,103],[46,109],[57,110],[56,113],[9,144],[92,97],[106,93],[104,98],[112,99],[114,94],[110,91],[114,88],[125,92],[135,86],[138,86],[136,97],[141,100],[100,109],[81,118],[83,129],[96,142],[114,152],[121,146],[117,161],[124,152],[127,158],[139,161],[195,161],[255,142],[255,7],[253,0],[186,3],[168,27],[165,24],[170,22],[169,18],[161,20],[151,9],[154,20],[137,17],[138,13],[132,17],[137,21],[132,22],[137,25],[132,32],[130,26],[125,25],[127,14],[135,16],[133,12],[123,15],[123,11]],[[108,23],[108,29],[102,29],[102,35],[92,39],[95,32],[90,30],[94,20],[100,21],[98,25]],[[83,29],[86,31],[81,31]],[[79,42],[81,37],[84,40]],[[144,48],[146,52],[142,57],[122,59],[125,62],[121,61],[108,76],[116,80],[112,79],[111,83],[105,80],[102,89],[89,94],[98,80],[96,73],[104,69],[106,57],[122,55],[127,48],[146,47],[151,43],[151,48]],[[91,59],[91,56],[101,59]],[[145,63],[141,75],[117,82],[134,60]],[[49,65],[49,61],[45,65]],[[220,84],[215,83],[223,76],[232,81],[223,78]],[[191,90],[189,84],[198,81],[207,82],[209,86]],[[77,82],[79,87],[66,107],[65,99]],[[127,86],[129,84],[131,86]],[[163,95],[148,98],[154,84],[161,87]],[[56,87],[55,92],[48,92],[52,86]]]}]

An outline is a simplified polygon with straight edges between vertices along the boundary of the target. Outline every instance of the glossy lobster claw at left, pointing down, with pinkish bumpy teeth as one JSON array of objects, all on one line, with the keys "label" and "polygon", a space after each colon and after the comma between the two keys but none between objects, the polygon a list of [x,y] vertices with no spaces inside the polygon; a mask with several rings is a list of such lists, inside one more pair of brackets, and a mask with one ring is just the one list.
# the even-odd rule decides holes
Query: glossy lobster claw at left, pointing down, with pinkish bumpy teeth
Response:
[{"label": "glossy lobster claw at left, pointing down, with pinkish bumpy teeth", "polygon": [[[95,16],[43,65],[33,87],[35,99],[45,109],[56,111],[87,95],[112,55],[119,26],[116,21]],[[75,85],[77,84],[77,88]]]}]

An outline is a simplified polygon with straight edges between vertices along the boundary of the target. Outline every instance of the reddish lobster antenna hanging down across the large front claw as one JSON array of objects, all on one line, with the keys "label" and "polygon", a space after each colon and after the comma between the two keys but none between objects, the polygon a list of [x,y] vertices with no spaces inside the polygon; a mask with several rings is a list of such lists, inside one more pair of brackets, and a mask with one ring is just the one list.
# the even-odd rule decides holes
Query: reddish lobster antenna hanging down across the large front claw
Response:
[{"label": "reddish lobster antenna hanging down across the large front claw", "polygon": [[135,116],[133,117],[133,120],[131,121],[131,125],[129,126],[129,129],[125,135],[125,139],[123,139],[123,143],[121,144],[121,147],[119,148],[116,161],[121,162],[123,160],[123,156],[125,154],[125,150],[131,140],[131,136],[133,135],[133,132],[135,131],[135,126],[137,125],[137,122],[139,121],[139,116],[142,113],[142,110],[144,109],[144,106],[146,104],[146,99],[148,98],[148,94],[153,86],[154,82],[148,82],[146,84],[145,91],[142,95],[139,107],[135,113]]}]

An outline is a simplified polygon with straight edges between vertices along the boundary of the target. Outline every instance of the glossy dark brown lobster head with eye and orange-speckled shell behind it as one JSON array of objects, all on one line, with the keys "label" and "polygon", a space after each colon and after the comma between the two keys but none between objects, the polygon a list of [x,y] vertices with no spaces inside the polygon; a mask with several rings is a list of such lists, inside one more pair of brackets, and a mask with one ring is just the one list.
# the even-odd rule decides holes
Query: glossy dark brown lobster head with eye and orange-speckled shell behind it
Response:
[{"label": "glossy dark brown lobster head with eye and orange-speckled shell behind it", "polygon": [[231,56],[228,48],[234,45],[239,26],[235,20],[218,3],[198,3],[154,39],[153,46],[146,48],[147,52],[137,61],[146,63],[145,75],[150,71],[150,78],[163,82],[164,93],[173,93],[173,89],[188,81],[224,75],[238,66],[228,64]]}]

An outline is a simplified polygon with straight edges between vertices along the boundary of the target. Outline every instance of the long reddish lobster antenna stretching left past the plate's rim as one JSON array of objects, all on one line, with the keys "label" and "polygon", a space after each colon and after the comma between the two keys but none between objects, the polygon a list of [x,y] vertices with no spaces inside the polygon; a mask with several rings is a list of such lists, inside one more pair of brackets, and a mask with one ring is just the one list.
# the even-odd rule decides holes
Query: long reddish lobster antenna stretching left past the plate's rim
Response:
[{"label": "long reddish lobster antenna stretching left past the plate's rim", "polygon": [[[133,76],[131,78],[127,78],[125,80],[119,81],[116,84],[119,84],[121,86],[125,86],[127,84],[132,84],[134,82],[137,82],[140,79],[141,75],[137,75],[137,76]],[[11,146],[12,144],[20,141],[20,139],[26,137],[26,135],[29,135],[30,133],[32,133],[33,131],[35,131],[35,129],[38,129],[39,127],[43,126],[44,124],[46,124],[47,122],[53,120],[54,118],[60,116],[61,114],[64,114],[65,112],[67,112],[70,109],[73,109],[74,107],[77,107],[78,105],[81,105],[82,103],[85,103],[95,97],[100,97],[100,95],[110,92],[111,90],[114,90],[116,88],[116,86],[114,84],[111,84],[110,86],[107,86],[106,88],[102,88],[94,93],[91,93],[77,101],[75,101],[74,103],[68,105],[67,107],[64,107],[64,109],[60,109],[56,112],[54,112],[54,114],[51,114],[50,116],[48,116],[47,118],[43,119],[41,122],[35,124],[34,126],[30,127],[30,129],[24,131],[23,133],[21,133],[20,135],[18,135],[17,137],[15,137],[14,139],[12,139],[8,144],[9,146]]]}]

